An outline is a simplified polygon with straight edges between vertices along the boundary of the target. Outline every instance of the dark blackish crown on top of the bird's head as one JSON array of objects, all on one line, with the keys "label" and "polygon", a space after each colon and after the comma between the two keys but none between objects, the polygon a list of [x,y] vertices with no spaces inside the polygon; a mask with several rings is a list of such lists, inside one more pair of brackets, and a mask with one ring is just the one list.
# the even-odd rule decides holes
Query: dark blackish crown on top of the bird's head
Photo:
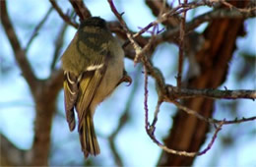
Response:
[{"label": "dark blackish crown on top of the bird's head", "polygon": [[92,17],[81,22],[81,25],[79,28],[84,28],[84,27],[106,28],[106,23],[103,19],[99,17]]}]

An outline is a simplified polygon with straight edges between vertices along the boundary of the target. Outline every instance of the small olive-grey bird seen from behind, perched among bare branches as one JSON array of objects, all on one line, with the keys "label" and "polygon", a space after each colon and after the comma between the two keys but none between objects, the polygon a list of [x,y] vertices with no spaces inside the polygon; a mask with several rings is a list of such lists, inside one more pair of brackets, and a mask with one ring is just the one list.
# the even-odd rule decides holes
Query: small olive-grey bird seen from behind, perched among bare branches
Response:
[{"label": "small olive-grey bird seen from behind, perched among bare branches", "polygon": [[64,70],[66,119],[70,131],[76,127],[85,157],[100,153],[94,127],[96,106],[122,82],[131,83],[124,70],[124,52],[104,20],[82,21],[61,58]]}]

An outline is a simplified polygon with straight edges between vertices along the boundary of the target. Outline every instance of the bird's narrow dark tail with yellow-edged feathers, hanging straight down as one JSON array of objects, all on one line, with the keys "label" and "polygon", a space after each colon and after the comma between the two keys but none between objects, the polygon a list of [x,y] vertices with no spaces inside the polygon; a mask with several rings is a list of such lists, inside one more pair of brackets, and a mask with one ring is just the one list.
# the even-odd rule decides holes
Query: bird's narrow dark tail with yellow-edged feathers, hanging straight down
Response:
[{"label": "bird's narrow dark tail with yellow-edged feathers, hanging straight down", "polygon": [[100,150],[96,140],[95,126],[91,114],[86,115],[82,124],[79,135],[84,155],[86,158],[89,154],[96,156],[100,153]]}]

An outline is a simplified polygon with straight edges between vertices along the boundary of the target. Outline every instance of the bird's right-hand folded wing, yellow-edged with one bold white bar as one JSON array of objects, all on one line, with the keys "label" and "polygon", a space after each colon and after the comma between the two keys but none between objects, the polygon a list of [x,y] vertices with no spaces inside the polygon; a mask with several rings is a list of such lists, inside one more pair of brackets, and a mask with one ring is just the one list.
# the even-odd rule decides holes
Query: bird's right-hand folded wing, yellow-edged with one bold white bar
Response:
[{"label": "bird's right-hand folded wing, yellow-edged with one bold white bar", "polygon": [[79,81],[79,96],[76,103],[76,110],[79,118],[79,129],[81,129],[83,119],[89,111],[90,104],[96,94],[96,89],[104,77],[107,68],[108,54],[97,55],[98,59],[81,75]]}]

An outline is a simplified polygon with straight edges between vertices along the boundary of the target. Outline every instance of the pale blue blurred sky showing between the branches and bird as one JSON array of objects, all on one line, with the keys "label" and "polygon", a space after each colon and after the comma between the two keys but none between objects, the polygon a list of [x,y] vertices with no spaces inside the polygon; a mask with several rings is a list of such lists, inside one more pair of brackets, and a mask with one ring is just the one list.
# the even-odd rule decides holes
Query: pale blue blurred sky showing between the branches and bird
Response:
[{"label": "pale blue blurred sky showing between the branches and bird", "polygon": [[[57,1],[61,9],[71,12],[68,1]],[[115,21],[107,1],[84,1],[93,16],[100,16],[106,21]],[[143,0],[114,1],[123,15],[128,27],[134,31],[147,26],[156,20],[151,10]],[[168,1],[167,1],[168,2]],[[19,37],[21,45],[26,48],[34,28],[51,8],[47,0],[8,0],[9,16]],[[200,7],[188,12],[188,20],[211,8]],[[51,74],[51,63],[56,46],[56,40],[63,20],[55,10],[49,16],[38,34],[32,40],[28,49],[28,59],[32,70],[39,79],[47,79]],[[202,32],[207,24],[197,28]],[[244,23],[246,35],[236,40],[236,51],[229,62],[229,69],[225,82],[219,87],[224,89],[256,89],[256,20],[247,19]],[[76,29],[67,26],[64,31],[63,46],[61,47],[54,69],[60,68],[60,56],[73,38]],[[145,36],[149,35],[147,33]],[[0,134],[9,139],[22,150],[32,147],[34,137],[34,101],[28,83],[25,81],[14,57],[14,52],[0,25]],[[160,68],[165,82],[176,84],[178,47],[174,44],[162,43],[153,55],[154,65]],[[122,83],[114,93],[101,103],[96,109],[95,127],[101,153],[85,162],[81,151],[77,131],[70,133],[65,119],[63,90],[57,98],[57,111],[54,115],[50,154],[50,166],[115,166],[115,153],[124,166],[156,166],[160,160],[160,147],[155,144],[145,131],[144,121],[144,75],[141,65],[134,67],[133,61],[125,59],[125,67],[132,77],[133,83],[126,86]],[[188,61],[185,60],[184,75],[188,70]],[[149,109],[150,120],[158,101],[154,80],[149,81]],[[45,97],[47,98],[47,97]],[[234,119],[236,117],[255,116],[256,108],[253,100],[216,100],[213,117],[217,119]],[[174,105],[164,103],[160,107],[159,122],[156,136],[160,141],[168,136],[172,127],[173,117],[177,110]],[[117,131],[119,120],[122,125]],[[205,148],[212,138],[213,130],[207,135],[201,149]],[[111,137],[114,139],[111,141]],[[113,143],[112,143],[113,142]],[[193,166],[255,166],[256,123],[247,122],[237,125],[224,126],[213,147],[205,155],[198,156]],[[1,154],[5,152],[0,152]]]}]

